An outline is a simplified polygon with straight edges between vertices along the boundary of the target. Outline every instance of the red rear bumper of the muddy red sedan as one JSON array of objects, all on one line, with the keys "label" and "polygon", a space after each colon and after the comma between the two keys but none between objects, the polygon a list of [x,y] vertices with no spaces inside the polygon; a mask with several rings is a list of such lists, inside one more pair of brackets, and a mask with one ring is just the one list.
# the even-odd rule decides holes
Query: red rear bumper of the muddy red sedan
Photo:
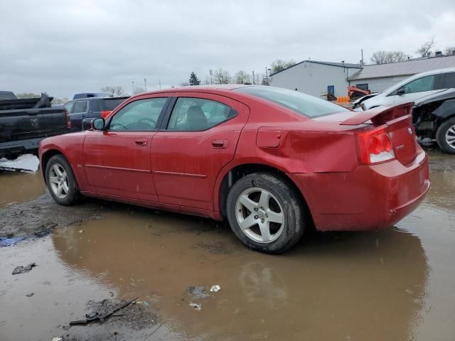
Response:
[{"label": "red rear bumper of the muddy red sedan", "polygon": [[415,210],[429,190],[427,155],[408,165],[391,161],[350,173],[290,173],[316,229],[365,231],[392,227]]}]

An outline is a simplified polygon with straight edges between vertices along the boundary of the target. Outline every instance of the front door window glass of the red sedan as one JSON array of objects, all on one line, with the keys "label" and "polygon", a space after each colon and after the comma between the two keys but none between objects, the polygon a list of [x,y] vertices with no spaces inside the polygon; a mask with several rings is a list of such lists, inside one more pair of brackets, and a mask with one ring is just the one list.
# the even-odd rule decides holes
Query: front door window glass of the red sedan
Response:
[{"label": "front door window glass of the red sedan", "polygon": [[166,104],[166,97],[139,99],[127,104],[112,117],[109,130],[152,131]]}]

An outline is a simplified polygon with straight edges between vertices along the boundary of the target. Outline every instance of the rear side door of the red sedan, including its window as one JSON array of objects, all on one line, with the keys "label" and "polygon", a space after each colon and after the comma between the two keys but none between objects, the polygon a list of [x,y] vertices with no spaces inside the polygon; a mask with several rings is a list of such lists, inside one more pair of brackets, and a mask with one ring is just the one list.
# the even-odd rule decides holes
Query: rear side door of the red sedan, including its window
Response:
[{"label": "rear side door of the red sedan, including its window", "polygon": [[159,201],[213,210],[216,177],[234,158],[248,114],[245,104],[216,94],[185,92],[173,99],[166,129],[151,146]]}]

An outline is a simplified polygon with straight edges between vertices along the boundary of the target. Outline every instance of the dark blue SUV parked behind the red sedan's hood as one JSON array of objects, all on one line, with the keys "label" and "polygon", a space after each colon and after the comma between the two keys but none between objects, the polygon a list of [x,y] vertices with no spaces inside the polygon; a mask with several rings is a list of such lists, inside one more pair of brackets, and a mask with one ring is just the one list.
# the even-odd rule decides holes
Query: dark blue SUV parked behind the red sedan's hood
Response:
[{"label": "dark blue SUV parked behind the red sedan's hood", "polygon": [[107,117],[127,98],[129,97],[88,97],[66,103],[64,107],[70,114],[71,132],[90,129],[92,119]]}]

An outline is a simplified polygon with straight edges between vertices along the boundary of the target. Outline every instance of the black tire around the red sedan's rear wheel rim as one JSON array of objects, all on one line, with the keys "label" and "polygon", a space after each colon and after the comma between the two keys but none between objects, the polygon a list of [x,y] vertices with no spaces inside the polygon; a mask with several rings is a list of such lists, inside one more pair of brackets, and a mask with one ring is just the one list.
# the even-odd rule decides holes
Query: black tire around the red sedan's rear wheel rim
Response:
[{"label": "black tire around the red sedan's rear wheel rim", "polygon": [[[282,229],[281,227],[277,227],[279,230],[276,234],[274,234],[274,236],[278,237],[276,237],[276,239],[272,242],[257,242],[257,240],[252,239],[252,237],[247,235],[251,234],[255,236],[254,230],[257,230],[257,232],[260,231],[259,224],[252,226],[252,229],[245,229],[247,232],[244,232],[244,230],[240,227],[239,220],[243,215],[245,215],[246,207],[239,209],[240,204],[237,202],[237,199],[240,200],[242,195],[245,196],[247,195],[245,193],[248,193],[250,190],[255,191],[256,189],[265,190],[267,193],[271,194],[272,197],[270,197],[270,200],[272,201],[269,201],[269,203],[273,204],[274,202],[277,202],[279,206],[281,206],[278,208],[282,211],[284,226]],[[253,192],[251,195],[256,194]],[[259,193],[258,195],[260,196],[261,194]],[[252,202],[255,202],[255,205],[260,202],[260,200],[257,200],[257,203],[256,200],[251,200]],[[275,205],[275,207],[277,207],[277,205]],[[261,210],[261,207],[255,207],[254,210],[259,210],[257,214],[261,213],[261,217],[264,217],[264,211]],[[240,180],[237,180],[228,194],[226,211],[232,232],[235,233],[243,244],[256,251],[269,254],[279,254],[294,246],[296,242],[299,242],[306,229],[304,203],[301,200],[301,196],[299,193],[296,193],[296,190],[294,190],[291,185],[289,185],[287,179],[281,178],[272,173],[252,173],[246,175]],[[257,219],[257,222],[261,220],[260,217],[259,219],[257,218],[258,216],[255,212],[246,209],[246,215],[248,215],[248,217],[248,212],[251,212],[251,215],[255,215],[253,219]],[[241,218],[239,218],[238,215],[240,215]],[[267,215],[266,219],[268,219],[268,217],[269,215]],[[245,218],[245,220],[247,219]],[[268,226],[270,226],[269,232],[270,235],[272,235],[272,222],[269,223]],[[279,226],[281,226],[281,224]],[[262,238],[262,232],[259,233]]]}]

